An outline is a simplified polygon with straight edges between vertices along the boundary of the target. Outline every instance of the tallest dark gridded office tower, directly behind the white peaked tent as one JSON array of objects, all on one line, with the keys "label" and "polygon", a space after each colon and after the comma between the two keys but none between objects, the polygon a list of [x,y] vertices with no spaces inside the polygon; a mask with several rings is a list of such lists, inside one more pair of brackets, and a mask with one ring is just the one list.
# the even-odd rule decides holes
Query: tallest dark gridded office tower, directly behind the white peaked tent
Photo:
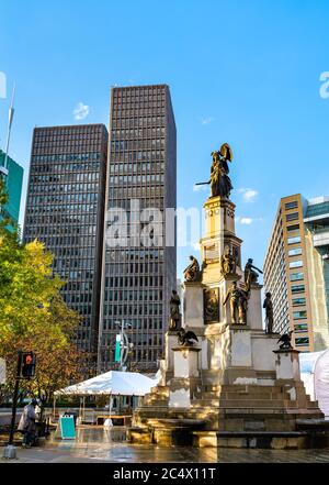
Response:
[{"label": "tallest dark gridded office tower, directly behind the white peaked tent", "polygon": [[[149,230],[151,209],[160,210],[163,218],[166,208],[175,209],[175,123],[168,86],[111,90],[109,147],[99,371],[117,366],[115,337],[125,326],[134,345],[127,367],[154,372],[162,356],[175,288],[175,231],[167,224],[170,235],[164,240],[166,222],[155,224],[155,233],[163,230],[163,241],[154,246],[138,234]],[[128,221],[128,239],[117,245],[109,236],[116,208]],[[125,218],[116,217],[124,234]]]}]

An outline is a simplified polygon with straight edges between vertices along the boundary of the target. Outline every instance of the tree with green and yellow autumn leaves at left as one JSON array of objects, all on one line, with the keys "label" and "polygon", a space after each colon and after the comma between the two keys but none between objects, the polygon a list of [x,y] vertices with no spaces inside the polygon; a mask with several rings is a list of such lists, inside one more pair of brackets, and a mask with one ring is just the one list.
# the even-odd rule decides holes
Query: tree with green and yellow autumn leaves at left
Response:
[{"label": "tree with green and yellow autumn leaves at left", "polygon": [[[0,205],[5,200],[0,185]],[[22,244],[7,224],[0,223],[0,356],[8,368],[2,394],[12,390],[18,351],[33,351],[36,377],[22,381],[21,388],[49,400],[80,377],[81,354],[73,343],[80,317],[60,297],[64,282],[53,275],[52,253],[38,241]]]}]

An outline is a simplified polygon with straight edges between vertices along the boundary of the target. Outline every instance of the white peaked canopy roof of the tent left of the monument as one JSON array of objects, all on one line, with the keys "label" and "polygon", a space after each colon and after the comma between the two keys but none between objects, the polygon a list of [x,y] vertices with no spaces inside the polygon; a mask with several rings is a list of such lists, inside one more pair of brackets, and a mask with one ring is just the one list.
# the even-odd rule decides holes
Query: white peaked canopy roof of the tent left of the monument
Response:
[{"label": "white peaked canopy roof of the tent left of the monument", "polygon": [[156,385],[157,379],[151,379],[137,372],[110,371],[82,383],[56,390],[55,396],[97,396],[102,394],[144,396]]}]

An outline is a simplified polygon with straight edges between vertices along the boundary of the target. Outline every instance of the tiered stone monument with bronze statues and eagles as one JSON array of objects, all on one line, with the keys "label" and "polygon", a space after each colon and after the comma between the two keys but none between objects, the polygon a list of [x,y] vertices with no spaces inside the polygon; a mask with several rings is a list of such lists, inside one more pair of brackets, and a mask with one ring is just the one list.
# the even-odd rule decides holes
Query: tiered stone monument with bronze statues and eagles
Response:
[{"label": "tiered stone monument with bronze statues and eagles", "polygon": [[[171,299],[160,379],[134,412],[128,439],[160,445],[314,448],[327,434],[306,395],[291,333],[273,333],[271,295],[261,302],[261,269],[241,262],[227,143],[212,153],[202,264],[184,272],[184,319]],[[262,307],[266,312],[263,329]],[[280,345],[281,343],[281,345]]]}]

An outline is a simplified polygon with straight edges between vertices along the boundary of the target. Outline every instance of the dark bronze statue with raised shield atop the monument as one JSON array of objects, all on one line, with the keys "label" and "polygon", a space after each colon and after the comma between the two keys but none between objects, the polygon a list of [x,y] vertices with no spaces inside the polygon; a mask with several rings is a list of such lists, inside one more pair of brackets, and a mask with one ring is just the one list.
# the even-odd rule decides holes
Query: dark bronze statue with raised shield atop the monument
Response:
[{"label": "dark bronze statue with raised shield atop the monument", "polygon": [[212,197],[229,198],[232,185],[228,176],[228,163],[232,161],[232,153],[228,143],[224,143],[218,152],[212,152],[213,164],[211,168],[211,179],[195,185],[211,185]]}]

